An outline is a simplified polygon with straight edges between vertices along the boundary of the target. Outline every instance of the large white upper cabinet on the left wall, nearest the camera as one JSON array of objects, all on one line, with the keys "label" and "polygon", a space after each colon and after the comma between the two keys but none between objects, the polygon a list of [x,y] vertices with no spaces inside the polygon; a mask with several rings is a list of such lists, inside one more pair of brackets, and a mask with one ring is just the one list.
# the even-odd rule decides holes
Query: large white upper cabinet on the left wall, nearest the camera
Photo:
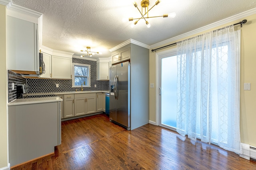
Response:
[{"label": "large white upper cabinet on the left wall, nearest the camera", "polygon": [[6,20],[8,70],[39,74],[38,24],[12,16]]}]

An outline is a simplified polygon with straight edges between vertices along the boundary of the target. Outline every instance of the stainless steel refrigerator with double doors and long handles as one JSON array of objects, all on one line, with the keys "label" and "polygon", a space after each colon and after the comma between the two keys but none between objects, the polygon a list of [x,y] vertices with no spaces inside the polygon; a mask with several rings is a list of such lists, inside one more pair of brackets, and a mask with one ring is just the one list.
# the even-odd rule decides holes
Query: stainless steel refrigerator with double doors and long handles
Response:
[{"label": "stainless steel refrigerator with double doors and long handles", "polygon": [[130,62],[110,68],[109,119],[130,130]]}]

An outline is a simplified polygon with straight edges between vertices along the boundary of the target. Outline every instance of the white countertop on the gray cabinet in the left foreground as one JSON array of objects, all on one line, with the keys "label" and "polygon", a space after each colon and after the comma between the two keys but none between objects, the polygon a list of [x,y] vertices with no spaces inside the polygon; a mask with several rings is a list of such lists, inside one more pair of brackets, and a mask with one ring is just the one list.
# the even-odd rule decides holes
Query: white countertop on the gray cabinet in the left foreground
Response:
[{"label": "white countertop on the gray cabinet in the left foreground", "polygon": [[25,99],[16,99],[8,103],[8,106],[22,105],[22,104],[35,104],[35,103],[48,103],[48,102],[61,102],[61,101],[62,99],[59,97],[25,98]]}]

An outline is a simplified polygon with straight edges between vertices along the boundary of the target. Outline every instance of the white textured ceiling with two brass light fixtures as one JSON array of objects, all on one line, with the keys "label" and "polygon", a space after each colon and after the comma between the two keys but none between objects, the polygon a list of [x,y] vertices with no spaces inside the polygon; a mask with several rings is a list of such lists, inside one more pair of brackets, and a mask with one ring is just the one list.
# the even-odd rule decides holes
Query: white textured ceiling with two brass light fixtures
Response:
[{"label": "white textured ceiling with two brass light fixtures", "polygon": [[[150,28],[140,20],[132,22],[123,18],[139,18],[134,0],[12,0],[13,4],[43,14],[42,45],[58,51],[84,55],[81,49],[102,54],[92,58],[110,57],[109,49],[134,39],[154,45],[210,23],[223,20],[256,8],[255,0],[162,0],[152,8],[149,16],[176,12],[175,18],[149,18]],[[136,0],[139,9],[140,0]],[[150,0],[150,7],[155,1]],[[88,57],[88,56],[87,56]]]}]

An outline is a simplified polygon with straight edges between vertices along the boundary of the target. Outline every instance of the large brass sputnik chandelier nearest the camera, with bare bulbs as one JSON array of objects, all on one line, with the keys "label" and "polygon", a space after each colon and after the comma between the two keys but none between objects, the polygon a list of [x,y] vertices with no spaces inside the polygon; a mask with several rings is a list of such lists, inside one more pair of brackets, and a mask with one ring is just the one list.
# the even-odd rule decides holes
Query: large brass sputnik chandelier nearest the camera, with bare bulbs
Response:
[{"label": "large brass sputnik chandelier nearest the camera, with bare bulbs", "polygon": [[[154,6],[158,5],[159,3],[160,3],[160,0],[157,0],[157,1],[155,2]],[[133,5],[134,5],[135,8],[137,8],[137,9],[139,10],[138,4],[137,4],[136,2],[134,2]],[[136,21],[131,25],[131,27],[134,27],[134,25],[136,25],[140,19],[144,19],[144,20],[146,21],[147,27],[149,28],[149,27],[150,27],[150,23],[146,20],[146,18],[156,18],[156,17],[163,17],[163,18],[169,17],[169,18],[174,18],[174,17],[176,16],[176,13],[173,12],[173,13],[170,13],[170,14],[164,14],[164,15],[162,15],[162,16],[151,16],[151,17],[149,17],[149,16],[148,16],[148,12],[149,12],[154,6],[152,6],[150,9],[148,9],[149,0],[142,0],[142,1],[140,2],[140,5],[141,5],[141,11],[139,10],[139,12],[140,12],[140,14],[141,14],[141,17],[140,17],[140,18],[129,18],[129,21],[136,20]],[[145,9],[143,10],[143,8],[145,8]],[[143,13],[143,11],[144,11],[144,13]]]}]

